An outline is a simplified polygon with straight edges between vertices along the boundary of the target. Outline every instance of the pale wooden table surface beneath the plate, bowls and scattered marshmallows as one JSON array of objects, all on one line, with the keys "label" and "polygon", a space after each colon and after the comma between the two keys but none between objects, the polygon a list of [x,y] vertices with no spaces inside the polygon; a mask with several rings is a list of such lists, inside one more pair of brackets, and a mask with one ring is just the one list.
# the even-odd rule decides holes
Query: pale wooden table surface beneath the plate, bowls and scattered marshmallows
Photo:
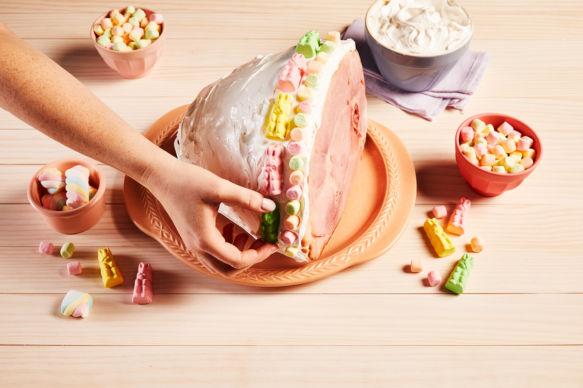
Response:
[{"label": "pale wooden table surface beneath the plate, bowls and scattered marshmallows", "polygon": [[[257,54],[281,51],[314,29],[344,30],[371,0],[142,1],[164,15],[164,54],[153,73],[109,69],[89,26],[110,0],[0,0],[0,20],[82,81],[136,130],[189,104],[202,87]],[[45,163],[78,156],[0,110],[0,385],[2,386],[583,386],[583,5],[578,0],[466,0],[471,48],[491,63],[468,109],[428,122],[368,96],[368,117],[394,131],[417,173],[417,201],[401,240],[381,257],[317,282],[254,288],[188,268],[129,219],[124,175],[103,166],[107,208],[93,229],[66,236],[28,204]],[[552,4],[552,5],[551,5]],[[1,53],[0,53],[1,55]],[[524,120],[545,155],[515,190],[485,198],[466,186],[453,137],[465,118]],[[74,114],[75,112],[71,112]],[[422,225],[431,208],[472,201],[458,252],[435,258]],[[467,292],[447,279],[473,236]],[[40,241],[71,241],[66,259]],[[110,247],[126,280],[105,289],[96,260]],[[408,273],[412,258],[422,273]],[[154,268],[154,300],[131,303],[139,262]],[[86,319],[60,314],[68,290],[92,294]]]}]

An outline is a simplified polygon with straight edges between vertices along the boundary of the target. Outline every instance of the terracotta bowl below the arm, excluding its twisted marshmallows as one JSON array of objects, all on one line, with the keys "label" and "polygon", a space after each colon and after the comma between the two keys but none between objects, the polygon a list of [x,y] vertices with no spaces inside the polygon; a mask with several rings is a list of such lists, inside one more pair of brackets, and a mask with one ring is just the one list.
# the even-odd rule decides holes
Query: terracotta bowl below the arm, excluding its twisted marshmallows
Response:
[{"label": "terracotta bowl below the arm, excluding its twisted marshmallows", "polygon": [[[56,168],[63,174],[66,170],[76,165],[82,165],[89,169],[89,184],[97,187],[97,193],[85,205],[68,211],[57,211],[43,208],[41,197],[47,193],[47,190],[41,186],[37,177],[48,168]],[[106,192],[106,176],[103,170],[93,162],[80,158],[59,159],[48,165],[43,166],[30,179],[28,197],[33,208],[43,216],[44,222],[59,233],[73,234],[83,232],[94,226],[103,213],[106,211],[106,201],[104,193]]]}]

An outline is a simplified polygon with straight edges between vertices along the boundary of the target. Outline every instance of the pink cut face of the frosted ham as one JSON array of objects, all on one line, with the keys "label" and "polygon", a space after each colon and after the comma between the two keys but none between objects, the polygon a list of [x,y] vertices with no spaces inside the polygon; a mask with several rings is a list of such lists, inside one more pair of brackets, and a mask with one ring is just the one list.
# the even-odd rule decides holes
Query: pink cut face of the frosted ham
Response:
[{"label": "pink cut face of the frosted ham", "polygon": [[310,158],[310,219],[302,240],[310,259],[322,254],[346,207],[364,150],[366,112],[360,57],[350,51],[332,76]]}]

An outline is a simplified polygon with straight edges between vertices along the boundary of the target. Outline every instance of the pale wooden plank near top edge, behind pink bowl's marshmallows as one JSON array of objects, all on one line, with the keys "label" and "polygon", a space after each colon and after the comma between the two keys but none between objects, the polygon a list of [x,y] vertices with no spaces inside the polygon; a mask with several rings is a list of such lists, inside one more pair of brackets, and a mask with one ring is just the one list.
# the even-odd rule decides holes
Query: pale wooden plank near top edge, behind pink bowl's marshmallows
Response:
[{"label": "pale wooden plank near top edge, behind pink bowl's marshmallows", "polygon": [[[164,23],[168,26],[168,40],[229,39],[236,35],[239,39],[277,38],[296,43],[306,31],[343,31],[354,19],[364,15],[365,12],[359,15],[337,6],[326,12],[326,17],[317,12],[300,13],[294,8],[293,12],[285,13],[285,23],[282,23],[278,13],[266,17],[263,13],[254,12],[241,17],[238,13],[165,12]],[[79,39],[89,38],[90,28],[98,16],[99,13],[75,13],[75,17],[63,25],[59,18],[47,17],[45,13],[6,13],[2,15],[2,22],[23,39]],[[550,15],[546,12],[525,15],[520,10],[518,13],[473,13],[472,19],[475,25],[473,37],[480,40],[583,39],[581,23],[575,17],[564,15]],[[51,31],[50,37],[47,37],[46,31]]]}]

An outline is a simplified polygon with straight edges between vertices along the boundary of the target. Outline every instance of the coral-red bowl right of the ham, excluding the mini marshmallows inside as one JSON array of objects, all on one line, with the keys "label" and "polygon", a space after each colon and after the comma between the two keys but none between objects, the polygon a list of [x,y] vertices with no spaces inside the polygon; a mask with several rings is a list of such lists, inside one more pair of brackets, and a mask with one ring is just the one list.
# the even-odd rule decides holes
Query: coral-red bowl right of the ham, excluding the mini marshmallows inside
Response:
[{"label": "coral-red bowl right of the ham, excluding the mini marshmallows inside", "polygon": [[[518,173],[501,174],[497,172],[486,171],[479,166],[476,166],[466,158],[462,153],[462,148],[459,147],[459,136],[463,127],[468,127],[474,119],[480,119],[486,124],[492,124],[494,129],[498,128],[503,122],[508,122],[515,130],[519,131],[522,136],[528,136],[534,140],[532,148],[536,151],[534,164]],[[466,180],[468,186],[477,194],[484,197],[496,197],[504,193],[504,191],[512,190],[522,183],[527,176],[535,170],[539,165],[540,159],[543,156],[543,146],[540,143],[540,138],[536,132],[526,123],[513,118],[512,116],[503,115],[501,113],[482,113],[481,115],[472,116],[465,120],[455,133],[455,161],[458,163],[459,172],[462,173],[463,179]]]}]

